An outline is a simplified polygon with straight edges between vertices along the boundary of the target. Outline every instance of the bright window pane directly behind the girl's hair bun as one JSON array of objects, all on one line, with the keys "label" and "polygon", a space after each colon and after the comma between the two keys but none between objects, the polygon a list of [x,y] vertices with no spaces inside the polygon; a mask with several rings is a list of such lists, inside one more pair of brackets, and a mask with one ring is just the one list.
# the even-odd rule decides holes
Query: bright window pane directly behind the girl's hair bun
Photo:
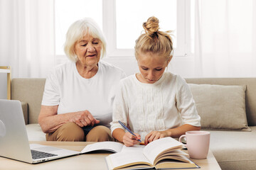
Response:
[{"label": "bright window pane directly behind the girl's hair bun", "polygon": [[[176,0],[161,0],[157,3],[155,0],[116,1],[117,49],[132,49],[135,40],[142,33],[142,23],[150,16],[159,18],[159,25],[163,30],[176,31],[176,9]],[[176,39],[174,40],[176,47]]]}]

